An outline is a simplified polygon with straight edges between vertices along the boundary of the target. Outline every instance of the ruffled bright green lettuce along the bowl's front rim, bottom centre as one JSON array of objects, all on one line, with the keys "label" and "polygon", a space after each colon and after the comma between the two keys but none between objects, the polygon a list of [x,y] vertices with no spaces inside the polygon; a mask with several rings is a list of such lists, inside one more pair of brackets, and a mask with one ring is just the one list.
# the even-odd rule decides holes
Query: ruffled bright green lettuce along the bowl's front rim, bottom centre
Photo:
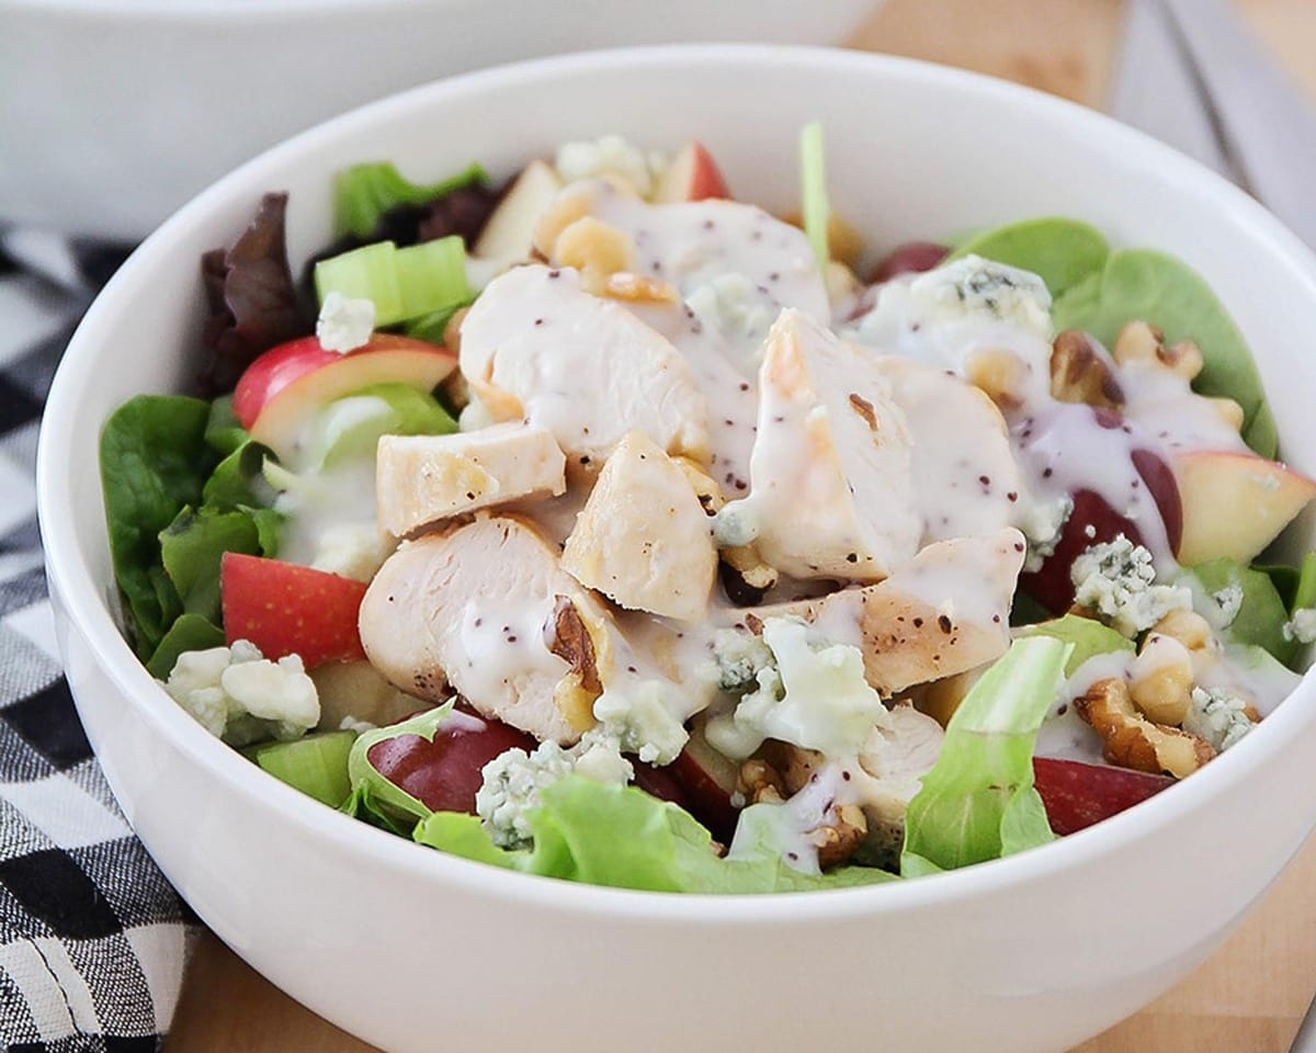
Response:
[{"label": "ruffled bright green lettuce along the bowl's front rim, bottom centre", "polygon": [[759,837],[753,829],[747,837],[737,836],[736,858],[720,858],[708,831],[675,804],[633,786],[605,786],[580,775],[541,790],[540,804],[526,819],[534,837],[526,850],[495,846],[479,819],[455,812],[432,813],[415,837],[525,874],[654,892],[794,892],[895,881],[883,870],[859,866],[800,873],[782,861],[766,833]]}]

